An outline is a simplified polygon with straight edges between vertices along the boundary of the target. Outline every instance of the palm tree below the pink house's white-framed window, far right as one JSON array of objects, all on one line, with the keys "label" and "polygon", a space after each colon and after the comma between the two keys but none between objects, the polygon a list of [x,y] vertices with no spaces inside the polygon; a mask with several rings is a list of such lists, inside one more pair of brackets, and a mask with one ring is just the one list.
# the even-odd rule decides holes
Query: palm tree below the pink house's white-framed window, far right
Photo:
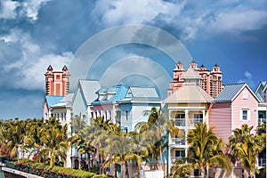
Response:
[{"label": "palm tree below the pink house's white-framed window, far right", "polygon": [[264,134],[255,135],[252,130],[253,126],[242,125],[241,129],[234,129],[229,138],[232,161],[240,161],[249,177],[255,177],[255,172],[258,172],[255,168],[257,156],[265,145]]}]

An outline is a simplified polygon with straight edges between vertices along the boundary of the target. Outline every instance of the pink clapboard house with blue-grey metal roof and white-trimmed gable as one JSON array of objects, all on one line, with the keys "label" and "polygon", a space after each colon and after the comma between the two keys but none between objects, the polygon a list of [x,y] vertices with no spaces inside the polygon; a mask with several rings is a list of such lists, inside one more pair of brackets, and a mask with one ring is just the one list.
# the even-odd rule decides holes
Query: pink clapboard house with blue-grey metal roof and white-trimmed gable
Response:
[{"label": "pink clapboard house with blue-grey metal roof and white-trimmed gable", "polygon": [[247,84],[226,85],[209,109],[208,125],[214,125],[214,133],[228,142],[235,128],[247,124],[256,129],[258,103]]}]

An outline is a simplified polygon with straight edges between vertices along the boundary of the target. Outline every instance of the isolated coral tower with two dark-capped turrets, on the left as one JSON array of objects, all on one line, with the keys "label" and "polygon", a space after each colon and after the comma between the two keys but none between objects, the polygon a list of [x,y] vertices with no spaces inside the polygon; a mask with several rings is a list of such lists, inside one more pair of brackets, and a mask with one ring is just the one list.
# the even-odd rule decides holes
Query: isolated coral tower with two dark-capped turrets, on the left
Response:
[{"label": "isolated coral tower with two dark-capped turrets, on the left", "polygon": [[47,68],[45,76],[46,95],[65,96],[69,93],[69,70],[66,66],[62,71],[53,71],[50,65]]}]

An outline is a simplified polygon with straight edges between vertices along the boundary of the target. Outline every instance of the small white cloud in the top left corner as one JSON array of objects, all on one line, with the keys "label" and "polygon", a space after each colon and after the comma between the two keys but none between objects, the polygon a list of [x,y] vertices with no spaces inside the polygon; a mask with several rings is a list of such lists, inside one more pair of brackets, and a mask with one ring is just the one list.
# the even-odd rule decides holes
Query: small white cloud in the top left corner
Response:
[{"label": "small white cloud in the top left corner", "polygon": [[17,16],[16,8],[20,5],[19,2],[3,0],[0,3],[0,19],[14,19]]}]

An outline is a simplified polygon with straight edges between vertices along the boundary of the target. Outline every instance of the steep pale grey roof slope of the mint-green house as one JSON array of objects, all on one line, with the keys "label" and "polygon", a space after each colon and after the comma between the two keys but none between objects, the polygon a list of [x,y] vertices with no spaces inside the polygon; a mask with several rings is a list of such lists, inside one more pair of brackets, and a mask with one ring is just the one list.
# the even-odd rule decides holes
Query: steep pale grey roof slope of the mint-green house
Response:
[{"label": "steep pale grey roof slope of the mint-green house", "polygon": [[79,80],[77,87],[81,88],[86,104],[90,105],[97,97],[95,92],[99,90],[101,86],[97,80]]}]

